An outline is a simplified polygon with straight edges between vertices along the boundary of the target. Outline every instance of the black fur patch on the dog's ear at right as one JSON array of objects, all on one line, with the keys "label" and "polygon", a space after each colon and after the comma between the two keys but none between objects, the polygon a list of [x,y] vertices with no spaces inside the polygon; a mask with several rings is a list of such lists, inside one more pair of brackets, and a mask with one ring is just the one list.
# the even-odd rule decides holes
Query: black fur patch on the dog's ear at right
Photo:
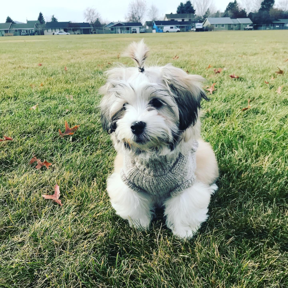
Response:
[{"label": "black fur patch on the dog's ear at right", "polygon": [[198,110],[201,108],[201,100],[209,101],[206,93],[200,89],[195,93],[184,87],[170,84],[170,89],[175,95],[175,102],[179,110],[179,130],[186,130],[190,125],[195,125],[198,118]]}]

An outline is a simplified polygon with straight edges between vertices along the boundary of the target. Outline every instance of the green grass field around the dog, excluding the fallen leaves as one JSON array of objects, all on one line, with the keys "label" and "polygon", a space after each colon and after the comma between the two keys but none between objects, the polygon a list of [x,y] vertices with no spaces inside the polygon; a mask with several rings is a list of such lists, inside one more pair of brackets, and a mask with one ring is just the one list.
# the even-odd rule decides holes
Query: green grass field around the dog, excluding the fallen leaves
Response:
[{"label": "green grass field around the dog, excluding the fallen leaves", "polygon": [[[131,230],[105,192],[115,152],[98,88],[142,37],[152,63],[216,83],[202,137],[219,190],[189,242],[161,214],[149,232]],[[0,138],[14,139],[0,143],[0,287],[287,288],[287,58],[288,31],[0,37]],[[65,120],[80,128],[62,139]],[[36,170],[33,155],[53,165]],[[41,197],[55,184],[63,207]]]}]

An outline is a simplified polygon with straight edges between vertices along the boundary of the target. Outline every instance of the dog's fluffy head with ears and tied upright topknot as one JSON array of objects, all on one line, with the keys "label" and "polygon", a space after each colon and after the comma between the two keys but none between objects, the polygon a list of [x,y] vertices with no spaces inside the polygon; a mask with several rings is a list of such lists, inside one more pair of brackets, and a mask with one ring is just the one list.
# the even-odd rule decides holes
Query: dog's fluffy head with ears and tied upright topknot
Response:
[{"label": "dog's fluffy head with ears and tied upright topknot", "polygon": [[102,126],[116,150],[143,158],[174,151],[196,124],[201,99],[208,100],[201,76],[171,64],[146,68],[148,52],[143,40],[130,44],[125,55],[137,67],[110,69],[100,89]]}]

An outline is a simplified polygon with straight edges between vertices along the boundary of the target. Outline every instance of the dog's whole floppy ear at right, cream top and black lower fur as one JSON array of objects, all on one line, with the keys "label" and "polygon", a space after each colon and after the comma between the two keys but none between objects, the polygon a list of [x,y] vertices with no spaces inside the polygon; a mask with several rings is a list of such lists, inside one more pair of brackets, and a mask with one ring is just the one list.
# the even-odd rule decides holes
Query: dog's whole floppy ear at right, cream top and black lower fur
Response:
[{"label": "dog's whole floppy ear at right, cream top and black lower fur", "polygon": [[201,100],[209,101],[201,88],[204,78],[189,75],[180,68],[168,64],[162,68],[164,82],[170,89],[179,110],[179,130],[195,125]]}]

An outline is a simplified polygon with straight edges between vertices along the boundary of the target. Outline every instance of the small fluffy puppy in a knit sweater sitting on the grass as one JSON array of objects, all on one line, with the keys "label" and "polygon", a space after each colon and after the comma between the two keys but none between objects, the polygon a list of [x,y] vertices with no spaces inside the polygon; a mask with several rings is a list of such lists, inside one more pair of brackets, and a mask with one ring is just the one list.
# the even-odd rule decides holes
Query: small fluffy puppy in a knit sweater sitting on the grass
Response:
[{"label": "small fluffy puppy in a knit sweater sitting on the grass", "polygon": [[201,76],[171,64],[146,67],[149,52],[143,40],[131,43],[124,56],[136,67],[108,70],[99,90],[102,127],[117,151],[107,191],[131,227],[148,229],[160,205],[173,234],[190,239],[217,190],[215,154],[200,138],[200,102],[209,99]]}]

